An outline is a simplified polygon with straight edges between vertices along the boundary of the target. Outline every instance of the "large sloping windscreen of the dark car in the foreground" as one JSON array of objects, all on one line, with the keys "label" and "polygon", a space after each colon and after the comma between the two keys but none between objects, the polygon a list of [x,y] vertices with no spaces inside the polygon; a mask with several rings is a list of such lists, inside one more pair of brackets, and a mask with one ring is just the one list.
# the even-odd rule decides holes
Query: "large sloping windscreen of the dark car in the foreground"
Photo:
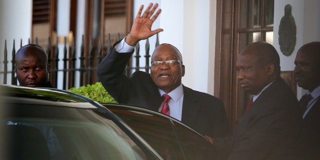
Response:
[{"label": "large sloping windscreen of the dark car in the foreground", "polygon": [[[9,157],[22,156],[20,152],[25,152],[25,148],[39,146],[39,156],[48,151],[51,159],[151,159],[98,109],[32,104],[9,105],[6,109],[7,114],[2,119],[8,132],[5,139],[9,144],[16,143],[7,152]],[[27,136],[23,138],[23,135]],[[43,137],[30,140],[30,135]],[[40,144],[43,140],[47,144],[45,147]],[[25,145],[21,145],[22,141]],[[20,151],[18,145],[22,148]]]}]

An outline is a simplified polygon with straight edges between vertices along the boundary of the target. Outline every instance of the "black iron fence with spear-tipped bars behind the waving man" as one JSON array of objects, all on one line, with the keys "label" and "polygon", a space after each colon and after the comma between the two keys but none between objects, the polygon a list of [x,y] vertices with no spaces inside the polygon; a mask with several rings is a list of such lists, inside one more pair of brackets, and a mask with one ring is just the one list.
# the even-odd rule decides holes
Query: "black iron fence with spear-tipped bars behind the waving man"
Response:
[{"label": "black iron fence with spear-tipped bars behind the waving man", "polygon": [[[118,34],[118,40],[122,39],[123,37],[120,37],[120,34]],[[79,87],[86,84],[93,84],[98,81],[98,78],[96,76],[97,66],[103,59],[105,55],[109,53],[111,49],[111,39],[110,34],[108,36],[108,44],[102,45],[99,41],[97,47],[93,47],[92,41],[90,40],[89,45],[84,45],[84,40],[82,36],[82,42],[81,47],[76,48],[76,44],[74,43],[74,39],[72,41],[72,45],[69,46],[67,43],[67,38],[65,37],[64,44],[60,47],[63,47],[63,52],[59,53],[58,45],[52,46],[50,38],[48,38],[48,47],[46,49],[48,54],[48,60],[50,64],[50,81],[54,86],[56,86],[59,89],[69,89],[71,87]],[[33,43],[28,41],[28,43]],[[36,39],[35,44],[38,44],[38,39]],[[56,42],[58,44],[58,42]],[[155,46],[158,46],[158,35],[156,35],[156,42]],[[22,47],[22,40],[20,40],[20,47]],[[87,53],[85,53],[85,47],[87,47]],[[4,47],[4,54],[3,55],[4,60],[0,61],[0,84],[13,84],[17,85],[17,79],[14,72],[14,58],[16,54],[15,49],[15,40],[13,40],[13,47],[12,47],[12,58],[8,59],[8,49],[9,45],[7,44],[7,41],[5,41],[5,47]],[[80,55],[76,54],[76,50],[80,50]],[[149,39],[146,40],[145,44],[145,55],[144,60],[145,65],[144,67],[140,66],[140,45],[137,44],[135,48],[135,53],[132,56],[132,59],[127,64],[125,68],[125,75],[127,77],[130,77],[132,72],[138,71],[138,70],[144,70],[145,72],[149,72],[149,64],[150,64],[150,54],[149,54],[150,44]],[[0,52],[1,53],[1,52]],[[9,53],[10,54],[10,53]],[[63,58],[59,56],[59,54],[63,54]],[[60,57],[60,58],[59,58]],[[135,61],[135,62],[133,62]],[[11,63],[10,63],[11,62]],[[3,64],[1,64],[3,63]],[[10,64],[9,64],[10,63]],[[80,64],[77,65],[76,64]],[[135,63],[133,66],[132,64]],[[62,66],[62,67],[61,67]],[[2,68],[3,67],[3,68]],[[7,81],[8,77],[11,76],[11,81]]]}]

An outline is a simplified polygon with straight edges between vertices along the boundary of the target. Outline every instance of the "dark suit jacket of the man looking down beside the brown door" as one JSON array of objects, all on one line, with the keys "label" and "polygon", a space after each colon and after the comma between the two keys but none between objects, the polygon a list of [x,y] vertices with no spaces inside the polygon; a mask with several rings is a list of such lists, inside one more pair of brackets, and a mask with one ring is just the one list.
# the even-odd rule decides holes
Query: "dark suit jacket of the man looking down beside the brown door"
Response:
[{"label": "dark suit jacket of the man looking down beside the brown door", "polygon": [[292,154],[297,153],[301,122],[296,96],[278,78],[244,113],[233,138],[217,139],[216,145],[230,147],[228,159],[298,158]]}]

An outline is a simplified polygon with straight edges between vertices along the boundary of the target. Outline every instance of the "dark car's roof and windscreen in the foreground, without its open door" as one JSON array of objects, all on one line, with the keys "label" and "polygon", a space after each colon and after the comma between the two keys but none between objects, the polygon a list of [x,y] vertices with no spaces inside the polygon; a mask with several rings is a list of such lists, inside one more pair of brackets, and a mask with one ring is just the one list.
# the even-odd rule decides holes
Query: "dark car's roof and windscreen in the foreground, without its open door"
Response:
[{"label": "dark car's roof and windscreen in the foreground, without its open door", "polygon": [[0,85],[0,159],[162,159],[102,105],[58,89]]}]

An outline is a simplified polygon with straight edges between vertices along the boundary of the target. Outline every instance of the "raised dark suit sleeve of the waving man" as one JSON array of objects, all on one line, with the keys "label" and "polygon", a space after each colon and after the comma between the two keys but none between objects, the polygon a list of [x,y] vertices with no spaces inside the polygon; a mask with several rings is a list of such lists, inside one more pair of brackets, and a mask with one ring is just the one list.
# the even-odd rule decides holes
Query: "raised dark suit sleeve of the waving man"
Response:
[{"label": "raised dark suit sleeve of the waving man", "polygon": [[97,76],[105,89],[117,102],[126,103],[130,94],[131,82],[123,72],[134,51],[118,53],[115,50],[115,46],[119,42],[114,44],[110,52],[99,64]]}]

